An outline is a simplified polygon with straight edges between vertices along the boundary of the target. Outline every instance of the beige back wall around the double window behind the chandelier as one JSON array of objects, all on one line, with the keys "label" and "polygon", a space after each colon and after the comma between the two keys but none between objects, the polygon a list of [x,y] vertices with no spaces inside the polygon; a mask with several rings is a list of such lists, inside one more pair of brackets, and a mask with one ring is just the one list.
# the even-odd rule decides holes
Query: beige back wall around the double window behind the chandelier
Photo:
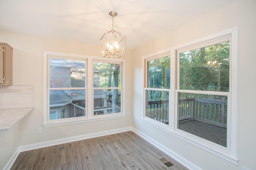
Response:
[{"label": "beige back wall around the double window behind the chandelier", "polygon": [[[126,117],[46,127],[43,124],[43,51],[71,53],[102,57],[100,45],[52,39],[0,31],[1,41],[10,44],[13,50],[13,84],[34,86],[34,109],[19,123],[19,146],[85,135],[132,125],[131,95],[126,95]],[[97,38],[97,37],[96,37]],[[100,42],[99,42],[100,44]],[[120,59],[126,62],[126,94],[132,94],[132,51],[126,49]],[[42,134],[36,134],[36,128],[42,127]]]}]

